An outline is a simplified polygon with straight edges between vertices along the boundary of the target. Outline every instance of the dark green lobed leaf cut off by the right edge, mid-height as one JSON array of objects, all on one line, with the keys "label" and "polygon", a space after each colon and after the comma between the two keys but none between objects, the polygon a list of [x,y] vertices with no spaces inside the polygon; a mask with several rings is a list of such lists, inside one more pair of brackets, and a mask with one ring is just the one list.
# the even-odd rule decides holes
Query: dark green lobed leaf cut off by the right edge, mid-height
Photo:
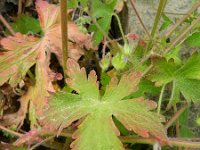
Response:
[{"label": "dark green lobed leaf cut off by the right edge, mid-height", "polygon": [[178,66],[164,59],[155,62],[149,77],[156,85],[174,82],[187,101],[200,102],[200,54],[193,54],[183,65]]}]

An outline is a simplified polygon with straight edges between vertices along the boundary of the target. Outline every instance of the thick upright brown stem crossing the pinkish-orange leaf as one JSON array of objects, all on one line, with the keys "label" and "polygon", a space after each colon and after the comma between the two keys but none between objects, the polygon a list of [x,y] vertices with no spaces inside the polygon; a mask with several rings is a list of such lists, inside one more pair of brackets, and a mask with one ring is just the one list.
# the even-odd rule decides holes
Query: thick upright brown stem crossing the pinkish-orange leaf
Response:
[{"label": "thick upright brown stem crossing the pinkish-orange leaf", "polygon": [[68,58],[68,18],[67,18],[67,1],[60,0],[61,12],[61,34],[62,34],[62,52],[63,52],[63,71],[66,77],[67,58]]}]

